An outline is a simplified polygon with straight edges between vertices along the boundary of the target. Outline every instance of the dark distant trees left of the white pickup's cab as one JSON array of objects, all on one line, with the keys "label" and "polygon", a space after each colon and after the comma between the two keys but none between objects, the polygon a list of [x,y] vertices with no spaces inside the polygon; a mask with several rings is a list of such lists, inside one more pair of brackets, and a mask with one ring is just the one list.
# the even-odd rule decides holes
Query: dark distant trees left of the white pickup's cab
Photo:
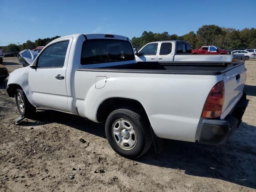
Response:
[{"label": "dark distant trees left of the white pickup's cab", "polygon": [[21,50],[24,50],[24,49],[30,49],[30,50],[33,50],[37,47],[40,47],[40,46],[46,46],[48,43],[50,43],[52,40],[56,39],[56,38],[59,38],[60,36],[55,36],[55,37],[52,37],[52,38],[44,38],[44,39],[37,39],[35,40],[34,42],[30,41],[30,40],[27,40],[26,43],[23,43],[23,44],[20,44],[20,45],[17,45],[17,44],[9,44],[7,46],[2,46],[2,49],[6,52],[9,52],[9,51],[21,51]]}]

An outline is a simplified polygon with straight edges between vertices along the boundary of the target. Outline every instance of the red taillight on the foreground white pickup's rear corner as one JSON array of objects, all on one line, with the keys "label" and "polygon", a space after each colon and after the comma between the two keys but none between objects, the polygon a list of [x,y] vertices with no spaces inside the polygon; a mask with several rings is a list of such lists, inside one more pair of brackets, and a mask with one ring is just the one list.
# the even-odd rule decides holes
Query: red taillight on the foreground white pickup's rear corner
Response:
[{"label": "red taillight on the foreground white pickup's rear corner", "polygon": [[212,88],[202,112],[203,118],[218,118],[222,113],[224,104],[224,81],[218,82]]}]

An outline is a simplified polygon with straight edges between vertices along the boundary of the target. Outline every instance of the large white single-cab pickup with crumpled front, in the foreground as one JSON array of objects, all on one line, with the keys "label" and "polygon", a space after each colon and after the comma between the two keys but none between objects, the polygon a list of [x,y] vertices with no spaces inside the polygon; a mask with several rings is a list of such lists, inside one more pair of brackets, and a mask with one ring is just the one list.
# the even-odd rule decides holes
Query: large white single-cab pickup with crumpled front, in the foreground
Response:
[{"label": "large white single-cab pickup with crumpled front, in the foreground", "polygon": [[104,123],[110,146],[137,158],[158,137],[225,142],[248,104],[245,80],[243,62],[138,64],[124,36],[74,34],[14,70],[7,92],[24,117],[44,107]]}]

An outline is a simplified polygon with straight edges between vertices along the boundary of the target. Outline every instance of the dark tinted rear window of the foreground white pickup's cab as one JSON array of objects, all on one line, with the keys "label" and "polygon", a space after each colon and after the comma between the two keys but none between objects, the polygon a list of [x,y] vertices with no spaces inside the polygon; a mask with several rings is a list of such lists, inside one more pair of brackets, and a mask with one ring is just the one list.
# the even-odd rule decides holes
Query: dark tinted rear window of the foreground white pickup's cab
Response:
[{"label": "dark tinted rear window of the foreground white pickup's cab", "polygon": [[81,64],[97,64],[134,60],[132,45],[116,39],[85,40],[82,46]]}]

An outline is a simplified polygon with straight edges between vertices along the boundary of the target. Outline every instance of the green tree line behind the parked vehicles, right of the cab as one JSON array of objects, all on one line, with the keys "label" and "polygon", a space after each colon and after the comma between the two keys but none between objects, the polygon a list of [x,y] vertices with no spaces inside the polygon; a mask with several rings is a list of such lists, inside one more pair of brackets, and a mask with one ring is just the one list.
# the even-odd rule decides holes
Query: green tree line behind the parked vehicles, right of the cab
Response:
[{"label": "green tree line behind the parked vehicles, right of the cab", "polygon": [[141,48],[145,44],[162,40],[185,40],[191,44],[193,49],[198,49],[202,45],[214,45],[223,49],[256,48],[256,28],[225,28],[217,25],[204,25],[196,31],[178,36],[168,32],[153,33],[144,31],[142,36],[133,37],[134,48]]}]

